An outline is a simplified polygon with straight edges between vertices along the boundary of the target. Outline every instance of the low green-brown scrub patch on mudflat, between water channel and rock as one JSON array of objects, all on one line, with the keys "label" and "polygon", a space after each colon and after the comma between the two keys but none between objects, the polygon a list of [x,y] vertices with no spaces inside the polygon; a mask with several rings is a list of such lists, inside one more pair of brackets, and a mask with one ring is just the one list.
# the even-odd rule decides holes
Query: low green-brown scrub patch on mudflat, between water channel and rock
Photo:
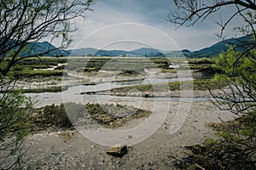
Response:
[{"label": "low green-brown scrub patch on mudflat, between water channel and rock", "polygon": [[73,128],[73,124],[79,126],[88,125],[85,119],[93,119],[94,122],[103,127],[117,128],[122,127],[133,119],[147,117],[150,113],[150,111],[127,105],[53,104],[39,109],[32,109],[28,124],[32,133],[45,130],[58,131],[60,128]]}]

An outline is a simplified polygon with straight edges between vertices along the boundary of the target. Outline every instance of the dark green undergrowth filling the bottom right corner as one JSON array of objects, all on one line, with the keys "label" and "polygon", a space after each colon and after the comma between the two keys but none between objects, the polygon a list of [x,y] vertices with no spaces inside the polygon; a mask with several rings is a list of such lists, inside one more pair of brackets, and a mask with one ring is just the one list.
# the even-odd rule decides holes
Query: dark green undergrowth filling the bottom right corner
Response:
[{"label": "dark green undergrowth filling the bottom right corner", "polygon": [[256,114],[241,116],[235,121],[212,123],[219,139],[187,146],[188,156],[174,165],[181,169],[255,169]]}]

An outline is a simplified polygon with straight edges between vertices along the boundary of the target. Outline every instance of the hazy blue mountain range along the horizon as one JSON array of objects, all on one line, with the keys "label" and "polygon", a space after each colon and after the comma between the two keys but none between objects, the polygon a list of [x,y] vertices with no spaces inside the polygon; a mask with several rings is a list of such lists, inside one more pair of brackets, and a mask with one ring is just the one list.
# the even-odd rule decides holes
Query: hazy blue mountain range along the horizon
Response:
[{"label": "hazy blue mountain range along the horizon", "polygon": [[[235,47],[241,45],[243,42],[251,41],[251,36],[230,38],[224,41],[214,43],[212,46],[202,48],[197,51],[189,51],[189,49],[163,51],[155,48],[138,48],[135,50],[103,50],[96,48],[79,48],[79,49],[55,49],[49,42],[33,42],[29,44],[28,48],[21,52],[21,56],[29,54],[43,54],[44,56],[146,56],[146,57],[178,57],[186,56],[190,58],[195,57],[213,57],[228,50],[229,46]],[[46,53],[47,50],[51,50]],[[239,49],[239,48],[238,48]]]}]

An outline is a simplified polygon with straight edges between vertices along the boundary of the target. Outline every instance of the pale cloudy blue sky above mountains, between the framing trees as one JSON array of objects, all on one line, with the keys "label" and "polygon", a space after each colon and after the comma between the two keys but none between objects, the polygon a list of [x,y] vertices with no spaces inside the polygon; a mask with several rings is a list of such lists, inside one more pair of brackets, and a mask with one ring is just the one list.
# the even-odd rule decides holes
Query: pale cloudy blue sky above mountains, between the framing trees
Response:
[{"label": "pale cloudy blue sky above mountains, between the framing trees", "polygon": [[[78,31],[73,33],[70,48],[197,50],[220,41],[214,35],[220,30],[216,22],[220,15],[225,19],[234,11],[225,8],[202,23],[176,29],[166,21],[171,10],[177,10],[173,0],[98,0],[92,8],[94,12],[88,12],[86,20],[76,20]],[[226,31],[228,37],[233,26]]]}]

